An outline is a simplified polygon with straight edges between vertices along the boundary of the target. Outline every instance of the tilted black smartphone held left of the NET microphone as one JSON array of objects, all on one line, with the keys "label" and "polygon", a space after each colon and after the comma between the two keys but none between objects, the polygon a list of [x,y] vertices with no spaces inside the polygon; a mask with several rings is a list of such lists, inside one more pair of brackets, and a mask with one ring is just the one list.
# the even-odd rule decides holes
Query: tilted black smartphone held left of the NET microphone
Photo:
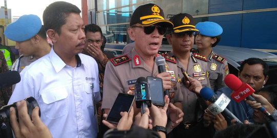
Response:
[{"label": "tilted black smartphone held left of the NET microphone", "polygon": [[112,105],[106,121],[117,124],[121,119],[120,112],[129,112],[133,102],[134,95],[119,93]]}]

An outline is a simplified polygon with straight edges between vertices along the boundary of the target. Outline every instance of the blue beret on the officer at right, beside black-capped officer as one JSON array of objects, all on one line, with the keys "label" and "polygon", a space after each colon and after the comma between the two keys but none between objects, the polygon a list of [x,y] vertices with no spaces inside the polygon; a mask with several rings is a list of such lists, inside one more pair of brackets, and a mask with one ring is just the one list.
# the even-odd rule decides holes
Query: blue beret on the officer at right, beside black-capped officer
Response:
[{"label": "blue beret on the officer at right, beside black-capped officer", "polygon": [[215,37],[222,34],[223,29],[219,24],[211,21],[199,22],[195,28],[200,31],[201,35]]}]

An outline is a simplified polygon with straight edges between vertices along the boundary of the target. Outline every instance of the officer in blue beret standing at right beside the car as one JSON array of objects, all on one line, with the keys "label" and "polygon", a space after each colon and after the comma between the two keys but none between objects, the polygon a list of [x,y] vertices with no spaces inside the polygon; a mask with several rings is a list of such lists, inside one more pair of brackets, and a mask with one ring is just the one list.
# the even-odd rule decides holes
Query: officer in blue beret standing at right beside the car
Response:
[{"label": "officer in blue beret standing at right beside the car", "polygon": [[216,91],[226,86],[224,78],[229,74],[226,59],[212,51],[212,47],[219,43],[223,29],[219,24],[210,21],[199,22],[195,28],[200,31],[195,39],[198,49],[195,52],[207,57],[208,78],[211,89]]}]

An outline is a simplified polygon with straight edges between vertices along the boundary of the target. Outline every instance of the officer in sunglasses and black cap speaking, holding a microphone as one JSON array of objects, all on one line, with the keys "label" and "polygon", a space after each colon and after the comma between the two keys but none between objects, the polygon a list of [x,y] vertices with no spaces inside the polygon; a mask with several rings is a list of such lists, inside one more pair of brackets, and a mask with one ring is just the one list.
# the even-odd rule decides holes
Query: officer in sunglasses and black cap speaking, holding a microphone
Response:
[{"label": "officer in sunglasses and black cap speaking, holding a microphone", "polygon": [[[175,59],[166,61],[169,70],[173,71],[171,74],[167,72],[159,74],[155,63],[155,58],[161,56],[156,53],[161,47],[166,28],[172,26],[170,21],[164,19],[163,10],[155,4],[142,5],[134,11],[128,34],[135,41],[135,47],[126,55],[111,59],[106,65],[102,103],[106,113],[109,112],[118,93],[133,95],[136,79],[147,76],[163,79],[164,89],[171,89],[171,102],[182,112],[180,102],[183,101],[183,96],[180,83],[177,83],[175,77],[177,74]],[[138,113],[139,109],[135,106],[134,109],[135,113]]]}]

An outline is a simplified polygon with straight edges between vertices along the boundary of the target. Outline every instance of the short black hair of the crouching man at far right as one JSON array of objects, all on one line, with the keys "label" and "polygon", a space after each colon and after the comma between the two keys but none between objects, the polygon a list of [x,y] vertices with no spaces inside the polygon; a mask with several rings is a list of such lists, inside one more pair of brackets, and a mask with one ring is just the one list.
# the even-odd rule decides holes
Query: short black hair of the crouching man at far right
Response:
[{"label": "short black hair of the crouching man at far right", "polygon": [[241,64],[241,66],[239,67],[240,73],[243,71],[243,67],[246,63],[249,65],[261,64],[264,68],[264,71],[263,71],[264,76],[266,77],[268,75],[268,65],[264,60],[262,60],[260,58],[248,58],[248,59],[244,60]]}]

